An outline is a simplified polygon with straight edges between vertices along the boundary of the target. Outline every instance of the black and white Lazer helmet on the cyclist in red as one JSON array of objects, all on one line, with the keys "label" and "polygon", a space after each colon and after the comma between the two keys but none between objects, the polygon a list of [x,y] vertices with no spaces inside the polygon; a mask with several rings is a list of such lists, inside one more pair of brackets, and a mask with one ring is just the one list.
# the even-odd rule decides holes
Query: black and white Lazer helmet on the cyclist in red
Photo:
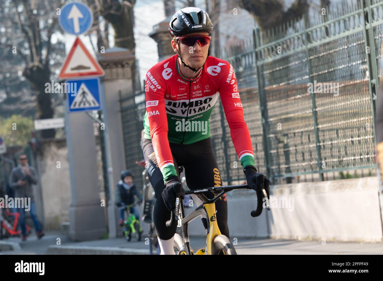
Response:
[{"label": "black and white Lazer helmet on the cyclist in red", "polygon": [[208,13],[196,7],[187,7],[175,13],[169,23],[169,31],[172,36],[182,36],[201,31],[213,32],[213,23]]}]

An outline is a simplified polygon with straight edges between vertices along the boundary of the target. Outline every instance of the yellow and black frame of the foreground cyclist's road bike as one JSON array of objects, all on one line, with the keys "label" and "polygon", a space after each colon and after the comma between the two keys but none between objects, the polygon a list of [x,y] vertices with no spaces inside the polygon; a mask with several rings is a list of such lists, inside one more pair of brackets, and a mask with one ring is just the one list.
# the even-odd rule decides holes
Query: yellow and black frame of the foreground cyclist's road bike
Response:
[{"label": "yellow and black frame of the foreground cyclist's road bike", "polygon": [[[185,252],[188,255],[192,255],[191,248],[190,248],[190,239],[189,239],[189,223],[193,220],[195,220],[197,217],[203,216],[204,214],[207,214],[208,217],[208,234],[206,235],[206,253],[203,253],[200,250],[196,253],[196,255],[199,254],[206,254],[211,255],[213,252],[212,244],[213,239],[217,235],[221,234],[221,231],[219,230],[217,218],[216,218],[216,207],[215,207],[215,201],[217,201],[223,194],[225,194],[228,191],[235,190],[235,189],[251,189],[247,185],[231,185],[231,186],[219,186],[219,187],[211,187],[211,188],[203,188],[200,190],[193,190],[193,191],[186,191],[186,194],[196,194],[198,195],[203,203],[198,206],[193,212],[188,214],[185,217],[185,211],[183,208],[182,200],[180,201],[180,209],[178,214],[178,225],[182,228],[182,238],[183,238],[183,246],[180,248],[179,253]],[[206,191],[211,191],[215,194],[218,193],[214,198],[208,199],[203,193]]]}]

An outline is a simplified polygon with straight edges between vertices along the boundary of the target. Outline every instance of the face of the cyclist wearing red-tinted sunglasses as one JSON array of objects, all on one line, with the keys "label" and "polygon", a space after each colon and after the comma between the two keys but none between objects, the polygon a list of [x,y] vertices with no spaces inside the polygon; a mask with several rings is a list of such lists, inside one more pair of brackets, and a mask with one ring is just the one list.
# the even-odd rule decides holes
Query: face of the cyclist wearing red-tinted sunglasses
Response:
[{"label": "face of the cyclist wearing red-tinted sunglasses", "polygon": [[[207,32],[195,32],[190,33],[188,35],[194,35],[194,34],[201,34],[201,35],[209,35]],[[203,63],[205,62],[206,58],[208,57],[208,51],[209,51],[210,44],[206,44],[205,46],[200,46],[198,42],[195,42],[194,46],[190,47],[185,44],[180,43],[180,54],[182,59],[191,67],[193,68],[199,68],[202,67]],[[177,41],[174,39],[172,40],[172,47],[175,52],[177,52]]]}]

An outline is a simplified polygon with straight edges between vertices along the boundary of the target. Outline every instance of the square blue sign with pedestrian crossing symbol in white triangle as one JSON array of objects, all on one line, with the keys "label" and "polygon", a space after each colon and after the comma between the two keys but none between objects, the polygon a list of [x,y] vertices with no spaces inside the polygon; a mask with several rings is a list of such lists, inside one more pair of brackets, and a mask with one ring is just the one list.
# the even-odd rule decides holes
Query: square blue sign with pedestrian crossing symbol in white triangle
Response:
[{"label": "square blue sign with pedestrian crossing symbol in white triangle", "polygon": [[67,104],[69,113],[101,110],[100,79],[67,80]]}]

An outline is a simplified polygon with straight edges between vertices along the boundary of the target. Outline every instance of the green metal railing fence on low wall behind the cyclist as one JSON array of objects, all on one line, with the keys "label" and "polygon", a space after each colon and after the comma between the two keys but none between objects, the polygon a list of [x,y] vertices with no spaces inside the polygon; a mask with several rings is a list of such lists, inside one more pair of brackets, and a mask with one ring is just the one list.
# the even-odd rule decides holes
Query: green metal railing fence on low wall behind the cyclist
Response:
[{"label": "green metal railing fence on low wall behind the cyclist", "polygon": [[[272,30],[254,29],[253,40],[221,51],[236,72],[255,165],[276,183],[376,174],[383,0],[347,1],[325,13],[311,9]],[[121,94],[126,163],[138,172],[145,96],[128,96]],[[244,179],[219,101],[210,133],[222,178]]]}]

